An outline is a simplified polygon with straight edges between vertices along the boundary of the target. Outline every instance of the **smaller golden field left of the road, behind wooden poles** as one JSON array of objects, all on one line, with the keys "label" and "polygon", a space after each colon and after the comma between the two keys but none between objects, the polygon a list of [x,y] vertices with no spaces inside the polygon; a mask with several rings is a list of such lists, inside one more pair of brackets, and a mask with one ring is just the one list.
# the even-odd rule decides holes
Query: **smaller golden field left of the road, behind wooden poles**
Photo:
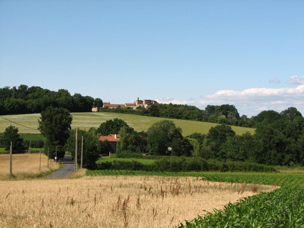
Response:
[{"label": "smaller golden field left of the road, behind wooden poles", "polygon": [[[24,175],[37,175],[41,172],[46,173],[59,168],[59,163],[49,160],[47,168],[47,156],[41,154],[41,170],[39,171],[39,153],[34,154],[13,154],[12,155],[12,174],[17,178]],[[9,154],[0,155],[0,180],[7,178],[9,174]]]}]

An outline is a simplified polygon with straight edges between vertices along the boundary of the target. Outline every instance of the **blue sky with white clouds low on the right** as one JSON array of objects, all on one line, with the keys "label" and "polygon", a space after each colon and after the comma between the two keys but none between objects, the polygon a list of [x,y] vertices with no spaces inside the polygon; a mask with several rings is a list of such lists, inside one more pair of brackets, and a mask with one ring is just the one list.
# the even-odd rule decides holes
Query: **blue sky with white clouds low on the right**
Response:
[{"label": "blue sky with white clouds low on the right", "polygon": [[304,1],[0,0],[0,87],[304,115]]}]

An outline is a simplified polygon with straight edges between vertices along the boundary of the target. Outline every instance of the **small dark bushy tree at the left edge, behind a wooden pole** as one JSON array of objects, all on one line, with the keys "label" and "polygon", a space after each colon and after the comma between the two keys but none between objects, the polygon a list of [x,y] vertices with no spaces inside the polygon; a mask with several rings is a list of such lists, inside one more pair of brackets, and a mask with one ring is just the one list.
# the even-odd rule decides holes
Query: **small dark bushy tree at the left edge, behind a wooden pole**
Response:
[{"label": "small dark bushy tree at the left edge, behind a wooden pole", "polygon": [[9,126],[5,128],[4,133],[1,136],[1,143],[4,145],[5,150],[9,150],[12,141],[12,150],[23,150],[22,142],[23,139],[20,138],[18,134],[18,127]]}]

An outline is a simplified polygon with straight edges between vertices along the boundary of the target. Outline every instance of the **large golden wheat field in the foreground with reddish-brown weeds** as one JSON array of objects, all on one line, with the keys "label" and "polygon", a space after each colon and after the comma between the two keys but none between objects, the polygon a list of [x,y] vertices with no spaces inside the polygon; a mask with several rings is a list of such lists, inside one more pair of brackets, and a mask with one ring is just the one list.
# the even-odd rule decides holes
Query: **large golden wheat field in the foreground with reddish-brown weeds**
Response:
[{"label": "large golden wheat field in the foreground with reddish-brown weeds", "polygon": [[0,182],[0,227],[174,227],[274,186],[193,177],[92,176]]}]

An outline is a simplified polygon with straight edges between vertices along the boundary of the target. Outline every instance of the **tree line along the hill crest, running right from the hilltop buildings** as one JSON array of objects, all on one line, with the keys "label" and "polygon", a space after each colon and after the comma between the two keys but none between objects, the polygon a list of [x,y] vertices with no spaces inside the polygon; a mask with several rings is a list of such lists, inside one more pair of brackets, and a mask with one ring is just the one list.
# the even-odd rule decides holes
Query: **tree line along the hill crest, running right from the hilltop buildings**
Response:
[{"label": "tree line along the hill crest, running right from the hilltop buildings", "polygon": [[234,105],[207,105],[205,110],[192,105],[158,104],[151,105],[149,109],[137,107],[118,107],[116,109],[101,108],[100,112],[115,112],[125,114],[135,114],[141,116],[155,116],[171,119],[195,120],[211,123],[219,123],[233,126],[256,128],[264,119],[283,119],[292,122],[297,116],[302,116],[295,107],[289,107],[278,113],[274,110],[262,111],[257,116],[248,118],[246,115],[240,116]]}]

